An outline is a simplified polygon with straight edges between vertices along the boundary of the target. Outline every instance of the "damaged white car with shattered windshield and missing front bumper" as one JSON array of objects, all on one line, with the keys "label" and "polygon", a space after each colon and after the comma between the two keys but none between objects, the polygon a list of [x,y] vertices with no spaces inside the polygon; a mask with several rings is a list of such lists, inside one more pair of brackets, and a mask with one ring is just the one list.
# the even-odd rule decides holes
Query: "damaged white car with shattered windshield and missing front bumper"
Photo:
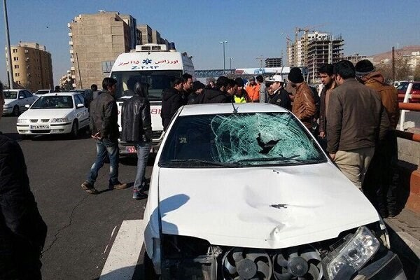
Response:
[{"label": "damaged white car with shattered windshield and missing front bumper", "polygon": [[271,104],[181,107],[144,219],[146,279],[406,279],[372,204]]}]

